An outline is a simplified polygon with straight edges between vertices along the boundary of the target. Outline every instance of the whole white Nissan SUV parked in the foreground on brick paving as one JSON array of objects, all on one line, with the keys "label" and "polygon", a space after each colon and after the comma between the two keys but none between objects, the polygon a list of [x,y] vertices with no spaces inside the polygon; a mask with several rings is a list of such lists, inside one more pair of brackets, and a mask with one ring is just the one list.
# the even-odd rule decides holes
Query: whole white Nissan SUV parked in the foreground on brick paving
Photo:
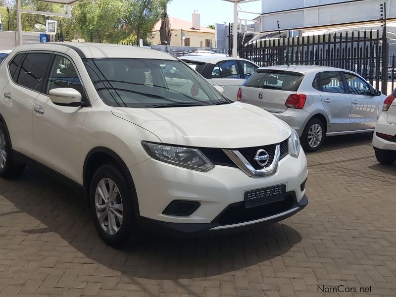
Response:
[{"label": "whole white Nissan SUV parked in the foreground on brick paving", "polygon": [[0,176],[34,164],[71,181],[110,245],[146,227],[186,236],[270,223],[307,204],[297,133],[166,53],[21,46],[0,66],[0,91]]}]

